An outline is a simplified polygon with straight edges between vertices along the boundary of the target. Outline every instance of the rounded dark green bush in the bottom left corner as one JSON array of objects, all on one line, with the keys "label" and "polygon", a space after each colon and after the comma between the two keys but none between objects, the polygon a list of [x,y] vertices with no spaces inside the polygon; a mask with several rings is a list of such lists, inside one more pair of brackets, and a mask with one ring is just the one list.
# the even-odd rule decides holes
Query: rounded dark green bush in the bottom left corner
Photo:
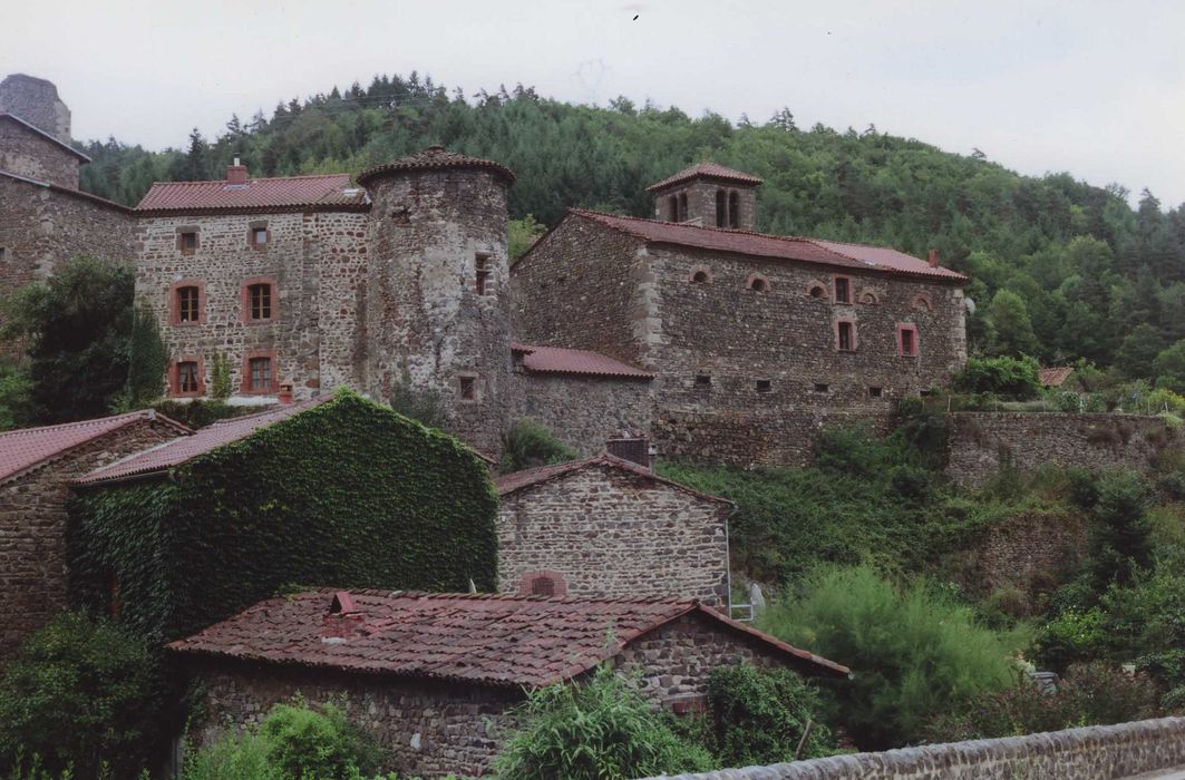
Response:
[{"label": "rounded dark green bush in the bottom left corner", "polygon": [[135,776],[160,735],[156,656],[123,628],[63,612],[30,637],[0,677],[0,766],[39,755],[47,772],[73,767]]}]

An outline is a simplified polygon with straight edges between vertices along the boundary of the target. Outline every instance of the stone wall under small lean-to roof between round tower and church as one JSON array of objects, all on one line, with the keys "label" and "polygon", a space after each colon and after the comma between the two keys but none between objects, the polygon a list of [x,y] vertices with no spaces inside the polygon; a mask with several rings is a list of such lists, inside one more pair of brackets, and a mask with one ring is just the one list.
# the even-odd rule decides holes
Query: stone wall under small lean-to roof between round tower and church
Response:
[{"label": "stone wall under small lean-to roof between round tower and church", "polygon": [[582,455],[622,431],[651,428],[651,383],[639,379],[515,372],[514,417],[542,423]]}]

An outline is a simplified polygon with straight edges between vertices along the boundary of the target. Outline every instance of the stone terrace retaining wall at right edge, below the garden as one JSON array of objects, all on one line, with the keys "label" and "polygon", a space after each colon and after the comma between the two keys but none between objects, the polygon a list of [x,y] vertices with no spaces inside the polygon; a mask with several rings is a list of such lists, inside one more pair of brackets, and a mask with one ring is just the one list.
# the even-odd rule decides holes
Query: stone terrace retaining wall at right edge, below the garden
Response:
[{"label": "stone terrace retaining wall at right edge, below the garden", "polygon": [[1037,412],[949,414],[947,473],[963,486],[981,485],[1001,468],[1042,465],[1090,470],[1145,470],[1181,436],[1154,417]]}]

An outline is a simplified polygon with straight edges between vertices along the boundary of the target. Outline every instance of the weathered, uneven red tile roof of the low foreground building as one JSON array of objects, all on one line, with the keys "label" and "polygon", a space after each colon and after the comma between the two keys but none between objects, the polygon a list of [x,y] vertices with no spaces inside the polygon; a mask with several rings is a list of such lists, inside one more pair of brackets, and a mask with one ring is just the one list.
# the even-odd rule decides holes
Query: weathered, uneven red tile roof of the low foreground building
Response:
[{"label": "weathered, uneven red tile roof of the low foreground building", "polygon": [[[570,679],[639,637],[697,613],[763,645],[799,670],[843,677],[845,666],[675,599],[559,599],[324,588],[262,601],[168,645],[178,653],[539,686]],[[331,604],[345,608],[331,613]]]}]

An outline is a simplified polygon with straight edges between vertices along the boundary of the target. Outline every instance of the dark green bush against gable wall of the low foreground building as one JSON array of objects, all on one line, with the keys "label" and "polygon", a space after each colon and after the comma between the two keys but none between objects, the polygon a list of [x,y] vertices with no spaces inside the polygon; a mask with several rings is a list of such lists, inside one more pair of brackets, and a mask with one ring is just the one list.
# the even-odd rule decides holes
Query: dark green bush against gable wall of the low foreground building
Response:
[{"label": "dark green bush against gable wall of the low foreground building", "polygon": [[835,750],[820,722],[819,691],[788,669],[749,664],[713,669],[707,682],[710,749],[719,766],[747,767],[793,761],[807,723],[811,734],[799,758]]}]

